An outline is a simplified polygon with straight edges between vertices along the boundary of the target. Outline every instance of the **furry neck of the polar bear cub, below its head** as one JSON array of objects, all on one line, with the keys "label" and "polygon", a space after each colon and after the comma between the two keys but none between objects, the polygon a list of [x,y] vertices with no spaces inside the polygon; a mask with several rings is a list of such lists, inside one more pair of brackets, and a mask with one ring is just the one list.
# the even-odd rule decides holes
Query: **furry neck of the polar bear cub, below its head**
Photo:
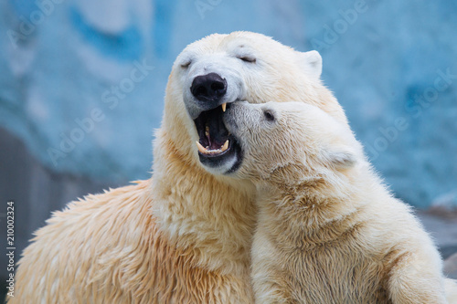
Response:
[{"label": "furry neck of the polar bear cub, below its head", "polygon": [[320,246],[347,236],[373,199],[367,194],[373,193],[369,188],[376,183],[370,183],[369,176],[364,180],[357,172],[321,175],[302,183],[261,183],[259,229],[267,231],[275,244],[292,247]]}]

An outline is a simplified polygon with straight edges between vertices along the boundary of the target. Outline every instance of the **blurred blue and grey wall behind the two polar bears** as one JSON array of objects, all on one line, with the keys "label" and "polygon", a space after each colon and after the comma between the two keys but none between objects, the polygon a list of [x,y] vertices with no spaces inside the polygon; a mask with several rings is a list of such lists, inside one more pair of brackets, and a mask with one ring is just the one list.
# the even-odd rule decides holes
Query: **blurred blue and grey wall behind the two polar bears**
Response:
[{"label": "blurred blue and grey wall behind the two polar bears", "polygon": [[321,53],[322,79],[374,166],[449,256],[456,16],[451,0],[0,0],[0,225],[13,200],[16,261],[51,211],[150,176],[174,59],[235,30]]}]

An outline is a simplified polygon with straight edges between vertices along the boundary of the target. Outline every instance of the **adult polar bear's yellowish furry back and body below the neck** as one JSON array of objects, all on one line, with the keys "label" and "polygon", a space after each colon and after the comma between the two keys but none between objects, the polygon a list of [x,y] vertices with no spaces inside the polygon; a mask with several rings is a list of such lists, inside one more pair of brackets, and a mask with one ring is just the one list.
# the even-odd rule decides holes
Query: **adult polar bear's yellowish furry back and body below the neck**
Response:
[{"label": "adult polar bear's yellowish furry back and body below the neck", "polygon": [[153,200],[143,181],[55,213],[24,252],[34,258],[21,259],[9,303],[249,302],[242,275],[199,267],[195,247],[164,237]]}]

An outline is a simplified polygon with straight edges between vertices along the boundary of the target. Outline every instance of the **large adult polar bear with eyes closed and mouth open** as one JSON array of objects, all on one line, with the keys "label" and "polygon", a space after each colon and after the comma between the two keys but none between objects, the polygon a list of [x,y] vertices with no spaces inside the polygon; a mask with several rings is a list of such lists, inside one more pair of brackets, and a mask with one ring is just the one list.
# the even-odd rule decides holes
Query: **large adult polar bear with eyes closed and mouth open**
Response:
[{"label": "large adult polar bear with eyes closed and mouth open", "polygon": [[222,108],[300,100],[346,123],[321,68],[317,52],[249,32],[186,47],[166,88],[153,177],[55,213],[24,251],[8,303],[252,302],[255,188],[230,177],[242,151]]}]

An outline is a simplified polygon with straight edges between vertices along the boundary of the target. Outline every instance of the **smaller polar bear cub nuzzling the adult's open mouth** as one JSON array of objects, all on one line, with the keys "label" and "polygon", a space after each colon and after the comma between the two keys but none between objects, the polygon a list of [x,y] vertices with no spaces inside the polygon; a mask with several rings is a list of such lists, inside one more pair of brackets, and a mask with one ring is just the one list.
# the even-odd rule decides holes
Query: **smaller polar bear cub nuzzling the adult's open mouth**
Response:
[{"label": "smaller polar bear cub nuzzling the adult's open mouth", "polygon": [[[229,105],[258,190],[258,303],[447,303],[441,257],[345,124],[301,102]],[[455,287],[455,285],[453,285]]]}]

